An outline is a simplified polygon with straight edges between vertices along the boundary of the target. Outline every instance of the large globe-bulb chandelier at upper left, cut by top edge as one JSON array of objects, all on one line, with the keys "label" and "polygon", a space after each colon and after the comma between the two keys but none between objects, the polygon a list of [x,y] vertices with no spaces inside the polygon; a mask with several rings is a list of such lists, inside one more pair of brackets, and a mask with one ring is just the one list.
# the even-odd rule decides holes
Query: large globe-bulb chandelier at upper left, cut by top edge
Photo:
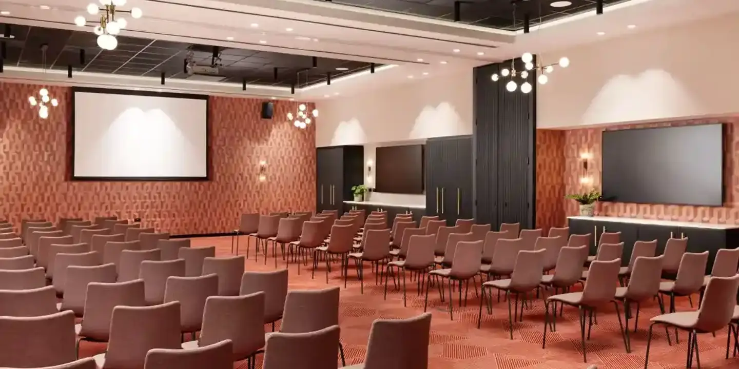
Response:
[{"label": "large globe-bulb chandelier at upper left, cut by top edge", "polygon": [[[100,15],[100,19],[92,21],[91,23],[97,24],[95,26],[95,35],[98,35],[98,46],[101,49],[112,50],[118,46],[118,39],[115,35],[120,33],[120,30],[128,26],[126,18],[120,17],[119,13],[129,13],[132,18],[141,18],[141,10],[137,7],[132,7],[131,10],[118,10],[118,7],[122,7],[126,4],[126,0],[99,0],[103,7],[98,7],[98,4],[90,3],[87,5],[87,13],[90,15]],[[75,18],[75,24],[79,27],[84,27],[88,21],[83,15],[78,15]]]}]

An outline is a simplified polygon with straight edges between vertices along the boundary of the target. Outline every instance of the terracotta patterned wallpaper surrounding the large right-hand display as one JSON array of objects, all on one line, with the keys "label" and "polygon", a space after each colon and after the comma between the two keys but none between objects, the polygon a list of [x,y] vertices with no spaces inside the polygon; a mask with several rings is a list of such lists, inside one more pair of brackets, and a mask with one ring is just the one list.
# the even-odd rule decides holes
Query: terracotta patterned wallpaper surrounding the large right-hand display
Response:
[{"label": "terracotta patterned wallpaper surrounding the large right-hand display", "polygon": [[[670,123],[645,123],[636,125],[619,125],[607,128],[583,128],[563,131],[564,145],[562,153],[565,168],[562,173],[562,184],[565,194],[576,191],[588,190],[591,186],[600,187],[601,176],[601,134],[604,129],[628,129],[647,127],[666,127],[678,125],[694,125],[706,123],[726,123],[726,134],[724,142],[724,204],[723,207],[700,207],[682,206],[669,204],[630,204],[623,202],[603,202],[596,206],[596,215],[621,216],[630,218],[663,219],[672,221],[701,221],[720,224],[739,224],[739,206],[735,203],[739,199],[739,171],[736,165],[739,163],[739,118],[722,118],[720,120],[685,120]],[[542,131],[537,131],[540,135]],[[588,162],[588,176],[593,179],[593,184],[581,184],[582,162],[580,154],[587,152],[593,156]],[[539,151],[537,142],[537,162],[542,161],[542,156],[550,155],[551,151]],[[539,165],[537,165],[537,170]],[[542,176],[542,179],[539,179]],[[542,172],[537,171],[537,184],[541,181],[553,181],[556,178],[556,170],[545,168]],[[537,191],[537,196],[539,195]],[[548,196],[548,195],[547,195]],[[560,199],[562,199],[560,197]],[[562,199],[565,215],[577,215],[578,207],[575,201]],[[548,198],[537,197],[537,219],[559,217],[556,207],[552,207]],[[556,223],[565,224],[565,217],[561,217]]]}]

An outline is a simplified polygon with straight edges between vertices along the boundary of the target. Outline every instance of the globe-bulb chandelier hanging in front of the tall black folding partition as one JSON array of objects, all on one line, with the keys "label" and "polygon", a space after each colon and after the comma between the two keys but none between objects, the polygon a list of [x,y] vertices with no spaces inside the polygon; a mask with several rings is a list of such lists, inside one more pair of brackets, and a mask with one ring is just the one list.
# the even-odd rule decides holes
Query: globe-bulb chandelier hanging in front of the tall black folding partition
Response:
[{"label": "globe-bulb chandelier hanging in front of the tall black folding partition", "polygon": [[[541,27],[542,24],[541,6],[541,1],[539,1],[539,27]],[[515,29],[517,26],[515,3],[513,4],[513,25]],[[525,18],[524,32],[528,32],[528,18]],[[516,91],[516,89],[518,89],[518,83],[516,83],[514,78],[521,77],[521,79],[523,80],[523,83],[521,83],[521,92],[523,92],[524,94],[528,94],[533,88],[533,86],[531,86],[531,83],[528,83],[528,75],[539,75],[539,77],[537,77],[537,81],[539,81],[539,84],[543,85],[549,81],[549,77],[547,75],[551,72],[554,72],[554,66],[567,68],[570,65],[570,59],[568,59],[567,57],[559,58],[559,61],[557,63],[545,64],[542,62],[541,55],[539,55],[539,57],[537,57],[537,60],[534,61],[534,55],[531,54],[531,52],[524,52],[523,55],[521,55],[521,61],[524,63],[524,70],[517,71],[515,61],[511,60],[511,69],[500,69],[500,76],[497,73],[493,73],[493,75],[490,76],[490,79],[494,82],[497,82],[498,80],[500,80],[501,76],[510,76],[511,80],[508,80],[508,83],[505,83],[505,89],[509,92],[514,92]]]}]

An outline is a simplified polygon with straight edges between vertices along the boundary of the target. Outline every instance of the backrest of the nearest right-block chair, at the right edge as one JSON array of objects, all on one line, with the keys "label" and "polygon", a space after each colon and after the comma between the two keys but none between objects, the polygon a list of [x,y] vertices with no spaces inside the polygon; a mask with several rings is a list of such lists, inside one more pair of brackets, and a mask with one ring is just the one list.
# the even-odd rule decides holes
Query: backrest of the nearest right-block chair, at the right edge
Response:
[{"label": "backrest of the nearest right-block chair, at the right edge", "polygon": [[739,275],[710,277],[701,307],[698,308],[696,330],[715,332],[726,328],[734,315],[738,289]]}]

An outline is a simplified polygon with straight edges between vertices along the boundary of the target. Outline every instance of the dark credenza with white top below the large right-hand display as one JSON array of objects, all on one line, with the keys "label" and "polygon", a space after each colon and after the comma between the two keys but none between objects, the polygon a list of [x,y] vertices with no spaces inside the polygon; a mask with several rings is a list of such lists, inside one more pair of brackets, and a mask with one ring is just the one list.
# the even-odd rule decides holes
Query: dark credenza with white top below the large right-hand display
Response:
[{"label": "dark credenza with white top below the large right-hand display", "polygon": [[710,274],[718,249],[735,249],[739,245],[739,227],[714,227],[715,224],[664,221],[653,224],[651,221],[639,223],[633,218],[611,217],[571,217],[568,218],[571,235],[590,233],[590,255],[596,254],[596,240],[603,232],[621,232],[624,242],[624,255],[621,264],[626,266],[636,241],[657,240],[657,255],[664,252],[664,245],[670,238],[688,238],[687,252],[709,252],[706,275]]}]

